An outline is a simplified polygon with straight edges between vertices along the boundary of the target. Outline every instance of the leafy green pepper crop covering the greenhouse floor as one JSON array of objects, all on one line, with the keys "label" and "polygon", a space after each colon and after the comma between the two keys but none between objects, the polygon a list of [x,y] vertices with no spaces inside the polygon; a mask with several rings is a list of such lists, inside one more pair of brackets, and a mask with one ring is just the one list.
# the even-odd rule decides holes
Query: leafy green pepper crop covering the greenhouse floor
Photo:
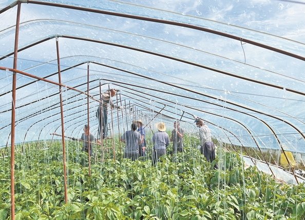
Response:
[{"label": "leafy green pepper crop covering the greenhouse floor", "polygon": [[[16,147],[15,219],[304,219],[304,185],[275,182],[255,167],[243,169],[233,152],[218,151],[214,170],[185,137],[185,152],[151,166],[149,156],[94,164],[66,143],[67,200],[60,142]],[[151,144],[148,143],[148,149]],[[112,150],[111,150],[112,151]],[[110,153],[113,153],[109,151]],[[94,151],[93,151],[94,152]],[[149,150],[148,150],[149,152]],[[108,156],[110,157],[110,156]],[[215,162],[216,162],[215,161]],[[0,220],[10,218],[10,160],[0,161]]]}]

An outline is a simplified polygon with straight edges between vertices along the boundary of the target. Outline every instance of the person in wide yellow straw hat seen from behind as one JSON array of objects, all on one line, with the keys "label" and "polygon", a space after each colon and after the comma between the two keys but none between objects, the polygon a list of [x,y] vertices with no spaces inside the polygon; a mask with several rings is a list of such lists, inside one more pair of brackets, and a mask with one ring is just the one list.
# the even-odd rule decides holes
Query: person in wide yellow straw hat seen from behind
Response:
[{"label": "person in wide yellow straw hat seen from behind", "polygon": [[152,163],[155,165],[162,155],[166,154],[166,147],[169,145],[169,136],[167,135],[164,122],[156,124],[158,132],[153,135],[151,142],[155,143],[153,152],[151,153]]}]

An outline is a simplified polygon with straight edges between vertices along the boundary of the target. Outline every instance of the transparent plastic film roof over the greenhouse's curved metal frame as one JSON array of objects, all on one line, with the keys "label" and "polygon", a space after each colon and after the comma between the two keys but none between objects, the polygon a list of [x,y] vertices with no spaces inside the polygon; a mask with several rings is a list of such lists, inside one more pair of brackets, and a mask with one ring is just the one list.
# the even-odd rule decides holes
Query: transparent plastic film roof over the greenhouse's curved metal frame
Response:
[{"label": "transparent plastic film roof over the greenhouse's curved metal frame", "polygon": [[304,153],[304,11],[290,1],[0,1],[0,146],[12,124],[15,143],[48,140],[62,122],[67,136],[88,120],[97,134],[100,93],[116,89],[125,111],[169,126],[195,132],[196,115],[224,143]]}]

